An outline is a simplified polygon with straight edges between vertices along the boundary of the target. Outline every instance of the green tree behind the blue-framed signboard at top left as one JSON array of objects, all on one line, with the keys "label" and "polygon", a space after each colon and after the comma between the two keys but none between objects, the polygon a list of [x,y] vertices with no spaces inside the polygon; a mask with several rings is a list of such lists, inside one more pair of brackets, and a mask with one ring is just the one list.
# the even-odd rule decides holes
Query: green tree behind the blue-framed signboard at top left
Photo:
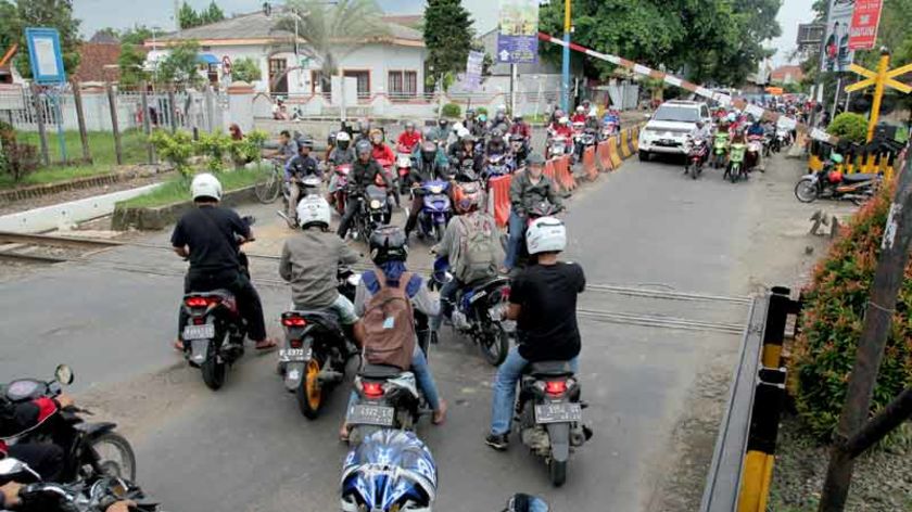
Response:
[{"label": "green tree behind the blue-framed signboard at top left", "polygon": [[[28,46],[25,42],[26,27],[52,27],[60,31],[63,52],[63,67],[72,75],[79,66],[79,20],[73,17],[73,5],[68,0],[16,0],[16,15],[9,29],[18,34],[21,51],[15,66],[23,77],[31,78],[28,64]],[[24,51],[23,51],[24,50]]]}]

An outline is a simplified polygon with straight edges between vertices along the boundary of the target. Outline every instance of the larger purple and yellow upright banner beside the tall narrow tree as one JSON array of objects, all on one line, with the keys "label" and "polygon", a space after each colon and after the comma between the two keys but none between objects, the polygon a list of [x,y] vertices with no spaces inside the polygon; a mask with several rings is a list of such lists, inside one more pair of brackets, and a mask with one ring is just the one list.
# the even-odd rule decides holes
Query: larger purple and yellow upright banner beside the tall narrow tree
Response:
[{"label": "larger purple and yellow upright banner beside the tall narrow tree", "polygon": [[531,64],[539,60],[539,0],[501,0],[497,62]]}]

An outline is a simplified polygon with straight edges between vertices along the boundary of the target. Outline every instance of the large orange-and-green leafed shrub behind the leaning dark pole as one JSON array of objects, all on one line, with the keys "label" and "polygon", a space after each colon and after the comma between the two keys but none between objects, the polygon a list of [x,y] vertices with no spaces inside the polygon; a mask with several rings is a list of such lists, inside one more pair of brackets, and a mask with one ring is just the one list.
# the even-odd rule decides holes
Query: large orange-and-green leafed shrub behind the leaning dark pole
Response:
[{"label": "large orange-and-green leafed shrub behind the leaning dark pole", "polygon": [[[805,291],[790,385],[799,415],[823,440],[829,440],[843,410],[892,194],[894,187],[885,185],[858,212]],[[905,267],[871,413],[912,385],[910,308],[912,261]]]}]

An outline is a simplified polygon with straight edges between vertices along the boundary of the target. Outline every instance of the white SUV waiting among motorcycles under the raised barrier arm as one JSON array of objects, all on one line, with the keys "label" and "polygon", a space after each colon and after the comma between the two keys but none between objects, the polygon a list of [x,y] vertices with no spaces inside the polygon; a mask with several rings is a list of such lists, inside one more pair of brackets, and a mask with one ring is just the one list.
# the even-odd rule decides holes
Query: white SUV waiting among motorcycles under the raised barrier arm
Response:
[{"label": "white SUV waiting among motorcycles under the raised barrier arm", "polygon": [[687,136],[697,121],[709,124],[706,103],[667,101],[639,130],[639,159],[648,161],[653,153],[683,155],[687,153]]}]

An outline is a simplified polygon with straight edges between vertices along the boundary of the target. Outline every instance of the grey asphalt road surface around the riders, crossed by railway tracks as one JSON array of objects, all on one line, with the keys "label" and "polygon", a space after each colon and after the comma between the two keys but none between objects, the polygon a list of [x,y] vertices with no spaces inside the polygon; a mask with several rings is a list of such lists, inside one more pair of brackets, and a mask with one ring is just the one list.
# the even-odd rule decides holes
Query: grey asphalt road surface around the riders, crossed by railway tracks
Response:
[{"label": "grey asphalt road surface around the riders, crossed by railway tracks", "polygon": [[[626,162],[578,190],[570,203],[568,257],[590,283],[653,291],[737,295],[746,290],[740,253],[756,210],[751,182],[721,172],[700,180],[668,163]],[[261,239],[250,252],[275,254],[288,234],[274,207],[255,213]],[[143,242],[164,245],[167,233]],[[413,251],[427,266],[422,251]],[[169,348],[183,264],[165,251],[123,247],[0,283],[0,375],[49,375],[59,361],[77,374],[74,392],[100,418],[115,418],[132,440],[139,479],[175,511],[338,510],[345,447],[337,441],[344,392],[317,421],[306,421],[274,373],[275,354],[248,355],[218,393]],[[276,264],[254,259],[255,278],[275,280]],[[262,282],[270,329],[287,290]],[[581,308],[742,322],[746,306],[725,300],[630,297],[590,290]],[[507,453],[482,444],[494,369],[465,341],[445,334],[431,355],[445,425],[419,434],[440,468],[435,510],[501,510],[508,495],[545,496],[556,511],[644,510],[670,471],[671,432],[702,363],[733,355],[739,336],[582,320],[581,377],[595,437],[573,455],[565,487],[514,439]]]}]

